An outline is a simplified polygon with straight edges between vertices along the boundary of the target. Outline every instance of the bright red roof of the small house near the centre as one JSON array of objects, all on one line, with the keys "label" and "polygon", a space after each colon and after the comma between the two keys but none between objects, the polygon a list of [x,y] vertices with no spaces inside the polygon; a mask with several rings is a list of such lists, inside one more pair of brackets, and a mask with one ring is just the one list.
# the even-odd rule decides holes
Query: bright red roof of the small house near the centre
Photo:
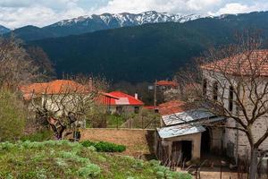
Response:
[{"label": "bright red roof of the small house near the centre", "polygon": [[113,92],[110,92],[109,94],[115,98],[118,98],[118,99],[114,99],[114,98],[111,99],[111,103],[110,103],[111,106],[143,106],[144,105],[144,103],[141,100],[135,97],[132,97],[126,93],[123,93],[121,91],[113,91]]}]

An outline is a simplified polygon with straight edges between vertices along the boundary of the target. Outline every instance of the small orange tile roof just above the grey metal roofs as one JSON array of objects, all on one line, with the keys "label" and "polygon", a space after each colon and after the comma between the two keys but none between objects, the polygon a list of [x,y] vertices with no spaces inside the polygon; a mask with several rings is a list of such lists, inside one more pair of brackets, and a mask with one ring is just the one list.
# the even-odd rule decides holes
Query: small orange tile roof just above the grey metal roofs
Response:
[{"label": "small orange tile roof just above the grey metal roofs", "polygon": [[189,107],[185,102],[180,100],[172,100],[159,105],[159,113],[161,115],[172,115],[188,110]]}]

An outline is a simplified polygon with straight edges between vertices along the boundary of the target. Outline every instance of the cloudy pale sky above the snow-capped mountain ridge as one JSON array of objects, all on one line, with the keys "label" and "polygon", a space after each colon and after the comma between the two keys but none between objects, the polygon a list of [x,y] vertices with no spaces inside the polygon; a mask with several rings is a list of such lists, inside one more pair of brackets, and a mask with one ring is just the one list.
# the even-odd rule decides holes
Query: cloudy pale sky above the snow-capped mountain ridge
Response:
[{"label": "cloudy pale sky above the snow-capped mountain ridge", "polygon": [[101,13],[220,15],[268,11],[268,0],[0,0],[0,24],[16,29]]}]

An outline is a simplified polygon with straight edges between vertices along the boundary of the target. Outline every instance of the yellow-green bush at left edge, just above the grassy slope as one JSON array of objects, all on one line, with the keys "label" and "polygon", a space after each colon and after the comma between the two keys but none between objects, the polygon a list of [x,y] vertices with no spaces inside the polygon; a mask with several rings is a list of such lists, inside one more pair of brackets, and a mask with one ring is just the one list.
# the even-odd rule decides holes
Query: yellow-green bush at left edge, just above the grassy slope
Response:
[{"label": "yellow-green bush at left edge, just above the grassy slope", "polygon": [[17,94],[0,90],[0,141],[19,138],[24,131],[26,115]]}]

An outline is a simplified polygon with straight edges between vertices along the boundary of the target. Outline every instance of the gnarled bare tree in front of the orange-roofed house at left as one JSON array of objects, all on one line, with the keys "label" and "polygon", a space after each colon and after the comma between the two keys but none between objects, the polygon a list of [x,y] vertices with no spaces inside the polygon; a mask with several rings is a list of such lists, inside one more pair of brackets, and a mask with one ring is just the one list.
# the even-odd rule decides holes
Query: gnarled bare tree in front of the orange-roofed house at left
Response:
[{"label": "gnarled bare tree in front of the orange-roofed house at left", "polygon": [[36,83],[31,91],[31,106],[46,121],[58,140],[85,125],[88,114],[100,98],[104,81],[79,77],[72,80]]}]

